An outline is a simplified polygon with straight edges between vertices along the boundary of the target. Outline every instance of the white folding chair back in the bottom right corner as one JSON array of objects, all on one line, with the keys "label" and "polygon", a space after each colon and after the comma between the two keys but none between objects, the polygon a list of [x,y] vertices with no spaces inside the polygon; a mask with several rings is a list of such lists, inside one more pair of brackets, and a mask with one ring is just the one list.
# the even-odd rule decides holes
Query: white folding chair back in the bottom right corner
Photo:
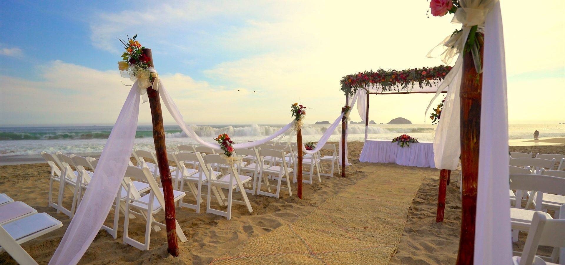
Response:
[{"label": "white folding chair back in the bottom right corner", "polygon": [[547,219],[543,212],[534,212],[520,265],[534,264],[534,259],[540,259],[536,257],[537,248],[540,245],[565,247],[563,234],[565,234],[565,219]]}]

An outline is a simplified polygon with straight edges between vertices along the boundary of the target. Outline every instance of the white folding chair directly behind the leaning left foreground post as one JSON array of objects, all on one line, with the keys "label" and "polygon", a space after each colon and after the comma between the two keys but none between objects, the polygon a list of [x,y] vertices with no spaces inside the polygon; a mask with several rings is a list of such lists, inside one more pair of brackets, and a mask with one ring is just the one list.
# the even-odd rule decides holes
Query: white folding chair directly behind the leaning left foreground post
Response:
[{"label": "white folding chair directly behind the leaning left foreground post", "polygon": [[[138,168],[128,166],[125,176],[146,181],[149,183],[150,192],[142,196],[135,188],[129,179],[124,179],[124,184],[127,184],[128,196],[125,199],[125,216],[129,214],[144,216],[146,220],[145,225],[145,241],[141,243],[129,237],[129,218],[124,219],[124,243],[132,245],[140,250],[149,250],[149,242],[151,239],[151,227],[157,225],[158,227],[165,228],[166,225],[159,223],[155,220],[154,215],[164,209],[165,200],[163,197],[163,189],[159,188],[157,181],[151,175],[151,171],[147,167]],[[124,187],[125,188],[125,187]],[[175,202],[185,196],[184,192],[173,190],[173,199]],[[135,211],[138,210],[138,211]],[[164,210],[163,210],[164,211]],[[176,234],[181,242],[186,242],[186,236],[182,232],[179,222],[175,220]]]}]

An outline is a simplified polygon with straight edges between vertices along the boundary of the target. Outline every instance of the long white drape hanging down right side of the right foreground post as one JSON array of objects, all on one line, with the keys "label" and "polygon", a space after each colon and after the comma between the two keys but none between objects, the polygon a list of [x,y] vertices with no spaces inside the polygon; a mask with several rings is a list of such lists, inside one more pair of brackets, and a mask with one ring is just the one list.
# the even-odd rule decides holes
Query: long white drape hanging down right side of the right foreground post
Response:
[{"label": "long white drape hanging down right side of the right foreground post", "polygon": [[[475,264],[508,264],[512,256],[508,204],[508,108],[502,15],[486,16]],[[441,122],[441,121],[440,121]]]}]

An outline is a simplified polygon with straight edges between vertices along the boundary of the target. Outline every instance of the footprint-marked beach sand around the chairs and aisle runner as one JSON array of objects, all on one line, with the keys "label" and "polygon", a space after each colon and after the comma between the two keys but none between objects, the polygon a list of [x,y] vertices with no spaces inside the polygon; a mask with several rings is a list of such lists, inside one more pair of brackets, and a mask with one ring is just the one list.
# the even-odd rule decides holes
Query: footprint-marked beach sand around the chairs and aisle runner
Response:
[{"label": "footprint-marked beach sand around the chairs and aisle runner", "polygon": [[[249,213],[244,206],[235,205],[232,210],[232,220],[229,221],[221,216],[196,214],[192,209],[177,207],[177,220],[188,238],[188,242],[179,244],[180,258],[173,258],[167,253],[164,229],[151,233],[149,251],[141,251],[122,244],[123,216],[121,216],[118,238],[114,240],[110,234],[101,230],[82,257],[80,264],[207,264],[228,251],[237,252],[238,247],[245,245],[242,243],[250,238],[302,219],[335,194],[367,177],[370,172],[357,171],[366,165],[355,159],[359,157],[362,147],[363,143],[350,142],[350,162],[353,166],[347,169],[346,178],[338,177],[336,172],[336,177],[323,177],[322,183],[315,181],[312,185],[305,184],[302,200],[296,196],[289,197],[285,192],[281,192],[281,198],[249,196],[254,211]],[[532,151],[534,154],[563,154],[563,147],[565,146],[511,146],[510,150]],[[398,167],[394,164],[384,165]],[[456,180],[457,176],[452,176],[451,184],[447,188],[445,220],[439,224],[435,223],[438,180],[423,180],[408,211],[406,227],[398,250],[390,260],[391,264],[455,263],[460,227],[460,199]],[[22,244],[39,264],[49,262],[69,224],[66,215],[57,214],[56,210],[47,207],[48,188],[49,167],[46,163],[0,167],[1,193],[6,193],[16,201],[27,203],[38,212],[47,212],[63,221],[62,228]],[[293,188],[295,192],[295,184]],[[70,192],[67,191],[67,196],[69,194]],[[206,211],[205,203],[201,211]],[[162,212],[157,216],[158,220],[163,220]],[[107,221],[110,224],[112,220],[108,218]],[[141,240],[144,227],[144,221],[132,219],[130,236]],[[516,249],[523,246],[525,234],[520,234],[520,239],[520,242],[515,244]],[[273,262],[276,262],[276,259],[273,259]],[[0,264],[16,263],[7,253],[1,253]]]}]

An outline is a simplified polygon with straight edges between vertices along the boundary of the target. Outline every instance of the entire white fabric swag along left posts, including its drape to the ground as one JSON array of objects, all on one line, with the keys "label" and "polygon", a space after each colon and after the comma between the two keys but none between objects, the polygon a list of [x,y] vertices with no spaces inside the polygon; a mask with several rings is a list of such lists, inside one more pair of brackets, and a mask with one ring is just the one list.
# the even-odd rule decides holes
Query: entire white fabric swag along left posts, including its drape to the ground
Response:
[{"label": "entire white fabric swag along left posts, including its drape to the ground", "polygon": [[[154,68],[149,68],[149,72],[157,73]],[[157,82],[155,88],[158,88],[160,98],[163,100],[163,105],[167,108],[173,119],[179,125],[186,135],[196,140],[203,146],[210,147],[215,150],[220,150],[220,145],[210,143],[202,140],[190,127],[186,126],[179,108],[167,92],[163,82],[155,79]],[[76,264],[90,246],[94,237],[98,233],[102,224],[106,220],[106,216],[110,211],[112,202],[120,189],[121,180],[124,177],[125,170],[127,169],[129,158],[131,157],[133,142],[137,131],[137,118],[139,114],[140,97],[146,94],[146,88],[140,88],[136,81],[121,108],[120,114],[112,132],[108,137],[108,141],[102,151],[102,155],[98,162],[98,166],[94,171],[92,181],[90,181],[89,188],[86,190],[84,198],[82,199],[75,216],[71,220],[67,231],[55,254],[51,258],[49,264]],[[355,99],[351,106],[355,105]],[[145,102],[145,100],[144,100]],[[321,147],[328,141],[333,131],[340,124],[344,114],[340,114],[336,121],[327,129],[318,141],[318,145],[314,150],[305,150],[308,154],[314,154],[319,151]],[[293,128],[296,121],[293,120],[289,124],[279,129],[279,131],[267,136],[258,141],[244,142],[241,144],[234,144],[234,149],[250,148],[257,145],[264,144],[273,140],[275,137],[289,131]],[[341,149],[340,149],[341,150]]]}]

